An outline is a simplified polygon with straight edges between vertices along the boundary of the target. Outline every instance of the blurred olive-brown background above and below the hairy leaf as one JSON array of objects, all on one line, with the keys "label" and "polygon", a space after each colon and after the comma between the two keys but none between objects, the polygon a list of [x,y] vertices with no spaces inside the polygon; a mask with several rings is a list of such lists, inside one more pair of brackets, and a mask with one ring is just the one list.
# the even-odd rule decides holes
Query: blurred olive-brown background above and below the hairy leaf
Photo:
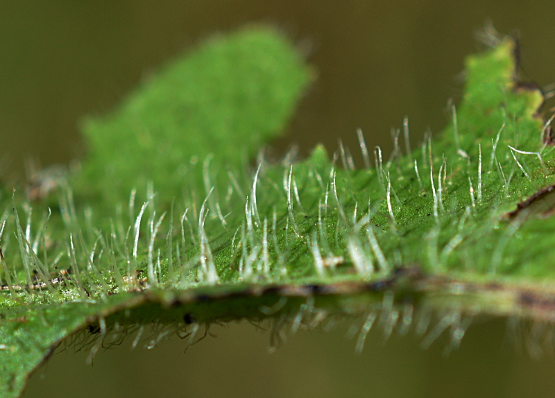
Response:
[{"label": "blurred olive-brown background above and below the hairy leaf", "polygon": [[[318,69],[287,136],[306,154],[339,137],[355,152],[355,129],[369,146],[391,150],[389,130],[410,118],[417,143],[447,121],[458,101],[473,33],[491,19],[520,31],[522,66],[540,85],[555,82],[555,2],[420,1],[8,1],[0,0],[0,157],[8,175],[24,160],[42,166],[82,156],[84,114],[109,110],[157,66],[213,33],[266,22],[287,33]],[[549,104],[552,106],[552,104]],[[504,320],[475,322],[458,352],[445,340],[427,350],[416,336],[385,343],[373,331],[361,356],[343,325],[304,332],[273,354],[269,334],[248,324],[215,327],[191,347],[173,338],[130,351],[56,354],[26,397],[551,397],[549,352],[532,361],[515,350]],[[525,342],[524,342],[525,343]],[[537,342],[532,342],[537,343]]]}]

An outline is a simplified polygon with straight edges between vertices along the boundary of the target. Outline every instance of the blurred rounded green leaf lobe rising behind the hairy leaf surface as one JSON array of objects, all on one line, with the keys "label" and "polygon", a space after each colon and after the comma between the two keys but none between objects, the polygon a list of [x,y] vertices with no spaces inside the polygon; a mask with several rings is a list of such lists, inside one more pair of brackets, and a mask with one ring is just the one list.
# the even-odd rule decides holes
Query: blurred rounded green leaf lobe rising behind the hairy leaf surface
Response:
[{"label": "blurred rounded green leaf lobe rising behind the hairy leaf surface", "polygon": [[150,183],[158,200],[171,202],[182,198],[184,184],[203,189],[203,163],[242,168],[280,135],[312,75],[268,28],[212,37],[111,114],[85,121],[89,155],[79,191],[114,202]]}]

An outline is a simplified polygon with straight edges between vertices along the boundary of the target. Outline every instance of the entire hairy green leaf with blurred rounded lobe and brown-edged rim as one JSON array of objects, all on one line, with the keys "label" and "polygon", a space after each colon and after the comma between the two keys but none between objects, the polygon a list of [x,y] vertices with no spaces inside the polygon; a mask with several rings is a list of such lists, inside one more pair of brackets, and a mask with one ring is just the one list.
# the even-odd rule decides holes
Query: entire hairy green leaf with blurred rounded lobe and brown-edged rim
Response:
[{"label": "entire hairy green leaf with blurred rounded lobe and brown-edged rim", "polygon": [[248,165],[314,75],[259,26],[86,121],[89,155],[57,195],[0,198],[2,392],[18,396],[68,336],[92,357],[125,336],[152,346],[246,318],[272,320],[279,340],[339,316],[361,320],[360,349],[377,313],[425,345],[446,329],[457,345],[475,315],[551,321],[551,129],[515,41],[488,35],[452,123],[409,150],[405,121],[387,158],[360,133],[358,167],[322,146]]}]

